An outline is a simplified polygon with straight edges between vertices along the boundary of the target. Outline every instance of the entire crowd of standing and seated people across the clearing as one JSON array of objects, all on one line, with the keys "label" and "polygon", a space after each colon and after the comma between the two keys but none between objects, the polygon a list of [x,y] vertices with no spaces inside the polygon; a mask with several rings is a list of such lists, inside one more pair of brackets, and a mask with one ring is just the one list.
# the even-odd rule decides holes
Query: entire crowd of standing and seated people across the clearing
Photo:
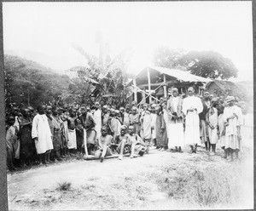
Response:
[{"label": "entire crowd of standing and seated people across the clearing", "polygon": [[188,89],[183,99],[172,88],[169,99],[150,104],[136,101],[125,107],[101,105],[13,106],[7,115],[6,144],[9,170],[61,161],[76,153],[101,162],[113,154],[122,160],[159,151],[196,153],[198,145],[215,155],[219,142],[224,158],[239,159],[242,109],[234,96],[214,98]]}]

